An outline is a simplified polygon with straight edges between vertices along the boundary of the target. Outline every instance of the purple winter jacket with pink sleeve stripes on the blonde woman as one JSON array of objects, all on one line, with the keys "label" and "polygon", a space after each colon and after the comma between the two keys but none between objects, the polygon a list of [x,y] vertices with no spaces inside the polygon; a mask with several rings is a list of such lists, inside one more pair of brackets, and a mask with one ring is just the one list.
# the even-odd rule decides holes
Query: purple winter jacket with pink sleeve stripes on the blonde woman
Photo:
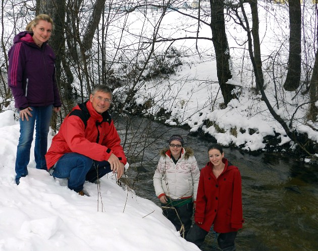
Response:
[{"label": "purple winter jacket with pink sleeve stripes on the blonde woman", "polygon": [[55,54],[47,45],[38,47],[33,33],[20,32],[9,50],[8,85],[19,110],[29,106],[61,106],[55,77]]}]

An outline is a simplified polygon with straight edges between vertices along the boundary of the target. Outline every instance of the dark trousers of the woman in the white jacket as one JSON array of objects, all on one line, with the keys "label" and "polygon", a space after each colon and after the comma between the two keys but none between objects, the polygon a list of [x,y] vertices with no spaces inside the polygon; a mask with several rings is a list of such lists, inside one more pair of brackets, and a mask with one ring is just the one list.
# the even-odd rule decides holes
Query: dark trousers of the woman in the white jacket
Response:
[{"label": "dark trousers of the woman in the white jacket", "polygon": [[[166,207],[167,204],[161,204],[162,206]],[[176,209],[176,210],[175,210]],[[187,233],[190,230],[191,224],[192,224],[192,214],[193,214],[193,202],[187,203],[181,207],[176,208],[163,208],[164,215],[172,222],[172,224],[175,225],[176,229],[180,231],[182,223],[184,225],[184,236],[187,235]],[[180,220],[178,218],[178,215],[180,217]]]}]

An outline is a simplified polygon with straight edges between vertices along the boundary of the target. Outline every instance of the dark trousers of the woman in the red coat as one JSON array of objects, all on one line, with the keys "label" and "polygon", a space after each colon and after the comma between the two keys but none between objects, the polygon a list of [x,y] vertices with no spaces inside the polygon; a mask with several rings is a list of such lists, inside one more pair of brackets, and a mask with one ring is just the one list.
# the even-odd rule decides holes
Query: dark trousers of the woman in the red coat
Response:
[{"label": "dark trousers of the woman in the red coat", "polygon": [[[207,231],[194,224],[186,236],[186,240],[200,247],[208,234]],[[235,237],[237,232],[220,233],[218,236],[218,244],[223,251],[235,251]]]}]

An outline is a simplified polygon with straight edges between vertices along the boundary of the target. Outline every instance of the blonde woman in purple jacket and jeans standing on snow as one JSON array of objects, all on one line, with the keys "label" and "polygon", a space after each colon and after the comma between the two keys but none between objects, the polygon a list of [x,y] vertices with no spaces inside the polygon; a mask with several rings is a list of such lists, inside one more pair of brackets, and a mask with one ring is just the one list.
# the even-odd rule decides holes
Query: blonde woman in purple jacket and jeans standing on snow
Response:
[{"label": "blonde woman in purple jacket and jeans standing on snow", "polygon": [[8,84],[20,116],[16,183],[28,174],[35,126],[34,157],[37,169],[46,170],[45,153],[52,111],[59,112],[60,94],[55,78],[55,53],[47,45],[54,24],[45,14],[36,16],[26,31],[15,36],[9,50]]}]

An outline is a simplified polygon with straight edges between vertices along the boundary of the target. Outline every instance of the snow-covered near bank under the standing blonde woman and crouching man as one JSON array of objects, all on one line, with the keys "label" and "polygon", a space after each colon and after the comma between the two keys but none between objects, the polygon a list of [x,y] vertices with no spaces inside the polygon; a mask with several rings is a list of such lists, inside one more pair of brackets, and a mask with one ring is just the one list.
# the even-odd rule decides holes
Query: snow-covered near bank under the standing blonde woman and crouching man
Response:
[{"label": "snow-covered near bank under the standing blonde woman and crouching man", "polygon": [[102,177],[100,186],[85,183],[90,197],[79,196],[66,179],[35,169],[32,150],[29,175],[17,186],[19,124],[13,115],[0,113],[1,251],[199,250],[160,207],[116,184],[113,175]]}]

